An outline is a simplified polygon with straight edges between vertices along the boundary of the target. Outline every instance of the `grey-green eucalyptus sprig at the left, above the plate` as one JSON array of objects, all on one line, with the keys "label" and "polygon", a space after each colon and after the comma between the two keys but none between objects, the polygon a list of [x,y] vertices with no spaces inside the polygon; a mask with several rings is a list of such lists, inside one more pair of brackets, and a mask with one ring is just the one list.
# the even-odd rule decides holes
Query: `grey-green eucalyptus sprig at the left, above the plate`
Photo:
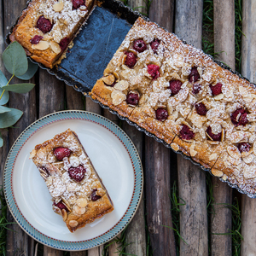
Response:
[{"label": "grey-green eucalyptus sprig at the left, above the plate", "polygon": [[[4,67],[12,74],[8,80],[0,70],[0,129],[8,128],[20,119],[22,111],[16,108],[8,108],[9,91],[16,93],[26,93],[35,86],[35,84],[10,84],[16,77],[22,80],[32,79],[38,70],[38,65],[33,64],[26,58],[26,52],[18,42],[13,42],[3,51],[2,60]],[[3,138],[0,133],[0,147],[3,147]]]}]

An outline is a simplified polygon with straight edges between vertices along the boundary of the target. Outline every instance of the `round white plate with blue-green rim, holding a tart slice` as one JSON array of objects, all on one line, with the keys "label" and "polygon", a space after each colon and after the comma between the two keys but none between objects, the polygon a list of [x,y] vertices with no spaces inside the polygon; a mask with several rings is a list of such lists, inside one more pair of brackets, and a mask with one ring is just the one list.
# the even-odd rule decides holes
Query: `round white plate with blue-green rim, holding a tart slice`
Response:
[{"label": "round white plate with blue-green rim, holding a tart slice", "polygon": [[[35,145],[67,128],[78,134],[114,205],[113,212],[74,233],[52,211],[49,191],[29,160]],[[76,110],[51,113],[29,125],[9,151],[3,178],[9,210],[20,227],[44,245],[70,251],[117,236],[137,211],[143,191],[142,164],[131,139],[101,115]]]}]

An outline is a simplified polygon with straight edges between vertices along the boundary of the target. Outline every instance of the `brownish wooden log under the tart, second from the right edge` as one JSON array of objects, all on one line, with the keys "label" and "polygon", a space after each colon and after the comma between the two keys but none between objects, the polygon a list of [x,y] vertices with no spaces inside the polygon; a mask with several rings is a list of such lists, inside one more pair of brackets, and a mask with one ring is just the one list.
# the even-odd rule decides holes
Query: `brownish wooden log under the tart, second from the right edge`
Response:
[{"label": "brownish wooden log under the tart, second from the right edge", "polygon": [[[216,58],[235,70],[235,2],[234,0],[214,0],[213,5],[214,52],[218,53]],[[227,204],[232,204],[232,189],[218,177],[212,177],[212,194],[211,253],[212,256],[229,256],[232,255],[231,235],[214,234],[230,233],[232,212]]]}]

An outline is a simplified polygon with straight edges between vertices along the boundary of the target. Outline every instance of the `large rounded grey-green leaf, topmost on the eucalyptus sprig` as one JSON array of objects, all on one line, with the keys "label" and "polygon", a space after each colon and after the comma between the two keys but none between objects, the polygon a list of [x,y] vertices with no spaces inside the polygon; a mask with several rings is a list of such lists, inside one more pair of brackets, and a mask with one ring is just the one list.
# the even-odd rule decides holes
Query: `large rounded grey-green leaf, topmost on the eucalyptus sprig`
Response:
[{"label": "large rounded grey-green leaf, topmost on the eucalyptus sprig", "polygon": [[26,73],[28,64],[26,52],[18,42],[13,42],[3,51],[3,64],[9,73],[21,76]]}]

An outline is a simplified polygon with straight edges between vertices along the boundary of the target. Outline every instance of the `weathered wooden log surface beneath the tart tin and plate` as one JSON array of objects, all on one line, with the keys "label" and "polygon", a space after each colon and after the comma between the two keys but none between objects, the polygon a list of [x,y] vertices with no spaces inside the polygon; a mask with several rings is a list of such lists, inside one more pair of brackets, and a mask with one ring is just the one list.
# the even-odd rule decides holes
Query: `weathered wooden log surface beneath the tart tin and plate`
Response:
[{"label": "weathered wooden log surface beneath the tart tin and plate", "polygon": [[[217,58],[235,69],[235,0],[214,0],[214,51]],[[146,13],[145,0],[130,0],[132,8]],[[26,0],[2,0],[0,2],[0,53],[3,52],[5,35],[15,23]],[[170,32],[201,48],[203,0],[152,0],[148,16],[150,20],[166,27]],[[256,82],[256,2],[243,0],[242,75]],[[4,72],[3,63],[0,69]],[[20,82],[16,79],[14,82]],[[90,98],[73,90],[39,69],[32,79],[37,86],[25,95],[11,93],[9,107],[19,108],[23,117],[8,131],[1,131],[4,146],[0,148],[0,171],[3,177],[4,162],[9,148],[26,126],[48,113],[63,109],[85,109],[99,113],[119,123],[116,115],[91,102]],[[153,255],[232,255],[231,236],[216,234],[230,233],[232,218],[229,208],[236,193],[225,183],[212,177],[214,211],[207,215],[206,173],[189,160],[174,154],[151,137],[145,137],[133,126],[122,122],[122,128],[131,137],[143,161],[145,186],[143,200],[131,224],[125,230],[125,253],[127,255],[148,255],[148,242]],[[1,180],[2,182],[3,180]],[[185,205],[180,207],[180,235],[183,240],[177,248],[172,230],[172,205],[170,196],[173,183],[178,184],[178,196]],[[256,255],[256,201],[247,196],[241,197],[242,224],[241,255]],[[182,204],[183,201],[180,201]],[[8,212],[9,222],[13,222]],[[145,226],[145,223],[147,226]],[[6,255],[36,255],[37,241],[20,229],[18,224],[10,224]],[[146,232],[147,230],[147,232]],[[209,231],[210,230],[210,231]],[[210,235],[209,235],[210,234]],[[148,241],[149,237],[149,241]],[[108,247],[108,255],[117,255],[119,244]],[[63,255],[64,252],[50,247],[41,247],[46,256]],[[83,252],[70,253],[72,256],[100,256],[103,246]]]}]

